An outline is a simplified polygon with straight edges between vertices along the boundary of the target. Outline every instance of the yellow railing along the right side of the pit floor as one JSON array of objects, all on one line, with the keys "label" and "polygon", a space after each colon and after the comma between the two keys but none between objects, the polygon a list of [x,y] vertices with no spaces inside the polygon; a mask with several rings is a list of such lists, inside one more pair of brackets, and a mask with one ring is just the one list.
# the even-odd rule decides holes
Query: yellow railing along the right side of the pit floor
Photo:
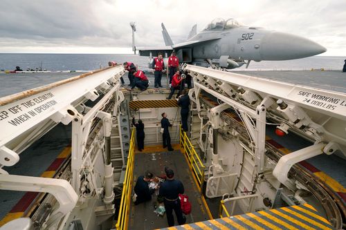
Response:
[{"label": "yellow railing along the right side of the pit floor", "polygon": [[199,190],[202,191],[204,182],[204,169],[206,169],[206,167],[202,163],[201,158],[194,149],[194,146],[191,144],[188,135],[186,135],[186,133],[181,129],[181,126],[179,142],[183,148],[183,153],[185,153],[186,157],[188,157],[190,170],[194,173],[197,179]]}]

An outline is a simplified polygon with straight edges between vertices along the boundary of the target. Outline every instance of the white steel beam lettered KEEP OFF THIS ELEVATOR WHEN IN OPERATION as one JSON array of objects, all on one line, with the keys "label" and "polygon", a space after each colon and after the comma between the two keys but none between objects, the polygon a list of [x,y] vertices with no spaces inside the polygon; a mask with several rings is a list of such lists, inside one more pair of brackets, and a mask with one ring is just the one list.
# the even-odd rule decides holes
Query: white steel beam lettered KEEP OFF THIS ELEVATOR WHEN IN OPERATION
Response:
[{"label": "white steel beam lettered KEEP OFF THIS ELEVATOR WHEN IN OPERATION", "polygon": [[[73,106],[88,99],[96,99],[97,89],[109,86],[108,81],[118,82],[124,71],[122,65],[118,65],[0,98],[0,148],[12,146],[12,151],[16,149],[17,153],[21,153],[31,144],[33,138],[30,137],[37,140],[43,131],[51,129],[46,127],[42,130],[37,126],[51,120],[68,124],[78,114]],[[51,124],[52,127],[55,125]],[[24,140],[28,144],[23,144]],[[16,142],[21,143],[20,149]],[[0,158],[8,162],[8,166],[15,164],[16,161],[8,155],[6,148],[2,150]]]}]

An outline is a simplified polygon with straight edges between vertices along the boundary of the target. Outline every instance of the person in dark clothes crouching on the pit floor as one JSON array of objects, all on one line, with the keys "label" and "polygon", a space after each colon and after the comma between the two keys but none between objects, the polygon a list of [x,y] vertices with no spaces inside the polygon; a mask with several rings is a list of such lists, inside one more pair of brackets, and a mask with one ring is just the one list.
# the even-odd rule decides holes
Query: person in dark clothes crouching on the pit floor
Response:
[{"label": "person in dark clothes crouching on the pit floor", "polygon": [[155,189],[149,189],[148,184],[153,178],[153,174],[149,171],[146,171],[144,174],[138,177],[134,186],[134,193],[137,195],[136,201],[134,201],[135,205],[152,200],[152,193],[155,191]]}]

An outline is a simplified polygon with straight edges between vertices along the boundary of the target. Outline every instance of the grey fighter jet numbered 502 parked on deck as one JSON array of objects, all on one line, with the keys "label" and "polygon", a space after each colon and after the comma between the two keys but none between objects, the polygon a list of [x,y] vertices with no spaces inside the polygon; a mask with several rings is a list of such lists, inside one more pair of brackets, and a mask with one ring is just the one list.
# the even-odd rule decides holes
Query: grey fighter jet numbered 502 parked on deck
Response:
[{"label": "grey fighter jet numbered 502 parked on deck", "polygon": [[[192,27],[188,40],[173,44],[163,23],[165,46],[138,48],[140,56],[155,57],[162,52],[168,57],[172,50],[180,62],[198,66],[218,66],[231,69],[250,61],[280,61],[310,57],[327,49],[310,39],[285,32],[248,27],[235,19],[214,19],[201,32]],[[133,44],[134,46],[134,44]]]}]

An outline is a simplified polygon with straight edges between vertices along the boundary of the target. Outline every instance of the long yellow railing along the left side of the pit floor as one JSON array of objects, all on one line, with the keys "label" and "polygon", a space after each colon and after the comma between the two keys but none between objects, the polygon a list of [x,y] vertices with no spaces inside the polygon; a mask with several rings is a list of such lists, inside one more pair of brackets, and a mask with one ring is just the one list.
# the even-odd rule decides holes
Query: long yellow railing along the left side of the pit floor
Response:
[{"label": "long yellow railing along the left side of the pit floor", "polygon": [[121,201],[120,201],[120,207],[119,207],[118,221],[116,222],[117,230],[127,229],[128,227],[132,183],[134,182],[132,178],[134,174],[134,144],[135,144],[134,133],[135,133],[135,128],[132,129],[132,132],[131,132],[131,140],[130,140],[130,146],[129,146],[129,155],[127,157],[125,180],[122,185],[122,195],[121,195]]}]

